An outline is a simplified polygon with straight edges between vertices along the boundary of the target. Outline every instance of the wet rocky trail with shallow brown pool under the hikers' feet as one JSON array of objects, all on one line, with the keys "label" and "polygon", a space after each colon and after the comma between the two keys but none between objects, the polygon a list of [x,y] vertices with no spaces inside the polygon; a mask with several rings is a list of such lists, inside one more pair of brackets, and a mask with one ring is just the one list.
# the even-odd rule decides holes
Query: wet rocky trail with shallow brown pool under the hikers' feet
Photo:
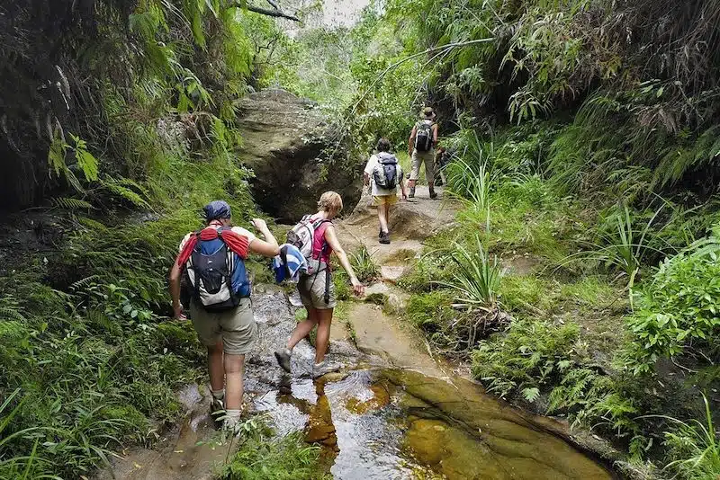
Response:
[{"label": "wet rocky trail with shallow brown pool under the hikers' feet", "polygon": [[[339,225],[347,249],[365,244],[382,265],[383,280],[368,293],[401,308],[394,286],[422,241],[451,224],[455,206],[418,198],[395,209],[390,245],[376,242],[374,209],[363,198]],[[566,440],[567,428],[485,395],[462,367],[432,356],[401,319],[370,302],[354,301],[347,320],[333,324],[329,355],[346,368],[311,380],[313,350],[301,342],[293,375],[277,367],[273,351],[296,323],[299,298],[276,286],[254,293],[260,344],[247,359],[249,408],[265,413],[278,435],[303,431],[320,444],[338,479],[606,479],[616,475]],[[164,433],[156,449],[130,449],[113,460],[115,478],[210,479],[233,446],[213,445],[205,387],[180,393],[184,422]],[[200,443],[199,443],[200,442]],[[110,471],[102,479],[112,478]]]}]

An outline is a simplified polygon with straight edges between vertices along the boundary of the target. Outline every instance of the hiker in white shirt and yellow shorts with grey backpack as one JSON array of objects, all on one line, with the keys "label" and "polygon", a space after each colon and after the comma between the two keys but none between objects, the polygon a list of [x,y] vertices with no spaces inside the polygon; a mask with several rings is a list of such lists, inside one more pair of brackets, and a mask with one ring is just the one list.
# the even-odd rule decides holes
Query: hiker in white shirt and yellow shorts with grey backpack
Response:
[{"label": "hiker in white shirt and yellow shorts with grey backpack", "polygon": [[405,179],[398,159],[390,153],[390,141],[381,138],[375,148],[377,153],[371,156],[365,165],[365,185],[372,185],[372,194],[377,206],[377,218],[380,223],[380,243],[390,244],[390,209],[398,201],[398,187],[402,200],[407,200]]}]

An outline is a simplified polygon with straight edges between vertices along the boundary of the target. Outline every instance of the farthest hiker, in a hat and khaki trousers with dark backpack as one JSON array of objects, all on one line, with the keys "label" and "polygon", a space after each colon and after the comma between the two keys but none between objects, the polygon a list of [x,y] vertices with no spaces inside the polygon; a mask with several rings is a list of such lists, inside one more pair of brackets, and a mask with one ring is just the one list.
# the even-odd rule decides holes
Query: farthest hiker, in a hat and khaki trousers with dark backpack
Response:
[{"label": "farthest hiker, in a hat and khaki trousers with dark backpack", "polygon": [[425,177],[428,179],[430,198],[437,199],[435,192],[435,148],[437,147],[437,123],[435,111],[426,107],[420,113],[420,120],[412,128],[408,140],[408,155],[412,158],[410,172],[410,199],[415,198],[415,184],[420,176],[420,166],[425,164]]}]

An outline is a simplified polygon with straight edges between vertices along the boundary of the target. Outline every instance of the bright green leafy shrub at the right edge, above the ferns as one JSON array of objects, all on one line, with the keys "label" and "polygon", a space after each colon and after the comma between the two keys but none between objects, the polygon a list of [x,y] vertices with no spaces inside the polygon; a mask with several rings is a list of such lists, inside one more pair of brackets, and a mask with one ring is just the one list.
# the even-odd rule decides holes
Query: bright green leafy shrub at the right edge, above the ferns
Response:
[{"label": "bright green leafy shrub at the right edge, above the ferns", "polygon": [[635,374],[652,371],[656,360],[679,355],[690,345],[715,345],[720,325],[716,246],[698,243],[666,259],[635,303],[627,319],[633,342],[626,351]]}]

